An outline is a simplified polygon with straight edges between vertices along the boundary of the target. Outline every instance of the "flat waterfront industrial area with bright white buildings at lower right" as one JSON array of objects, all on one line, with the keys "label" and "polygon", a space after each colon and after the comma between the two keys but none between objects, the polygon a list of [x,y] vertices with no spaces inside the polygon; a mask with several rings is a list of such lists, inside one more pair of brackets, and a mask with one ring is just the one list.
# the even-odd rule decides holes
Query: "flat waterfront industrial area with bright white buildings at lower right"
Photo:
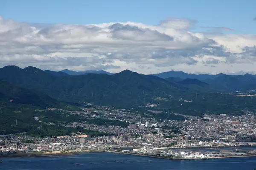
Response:
[{"label": "flat waterfront industrial area with bright white buildings at lower right", "polygon": [[152,158],[170,159],[170,160],[191,160],[191,159],[221,159],[221,158],[239,158],[256,157],[255,147],[224,147],[224,148],[137,148],[125,150],[105,150],[106,152],[128,154],[134,156],[147,156]]}]

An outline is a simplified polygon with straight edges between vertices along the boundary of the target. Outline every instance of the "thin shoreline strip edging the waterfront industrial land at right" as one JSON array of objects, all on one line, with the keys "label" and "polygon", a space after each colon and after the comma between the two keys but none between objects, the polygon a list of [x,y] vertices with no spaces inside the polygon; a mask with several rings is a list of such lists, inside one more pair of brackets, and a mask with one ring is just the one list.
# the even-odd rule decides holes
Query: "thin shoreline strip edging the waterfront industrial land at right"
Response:
[{"label": "thin shoreline strip edging the waterfront industrial land at right", "polygon": [[[201,159],[201,158],[166,158],[163,156],[150,156],[150,155],[140,155],[135,153],[122,153],[122,152],[112,152],[112,151],[105,151],[109,153],[117,153],[117,154],[126,154],[126,155],[133,155],[133,156],[146,156],[151,158],[158,158],[158,159],[169,159],[169,160],[192,160],[192,159]],[[219,159],[219,158],[243,158],[243,157],[256,157],[256,155],[247,155],[247,156],[222,156],[222,157],[209,157],[206,159]],[[205,159],[202,159],[205,160]]]}]

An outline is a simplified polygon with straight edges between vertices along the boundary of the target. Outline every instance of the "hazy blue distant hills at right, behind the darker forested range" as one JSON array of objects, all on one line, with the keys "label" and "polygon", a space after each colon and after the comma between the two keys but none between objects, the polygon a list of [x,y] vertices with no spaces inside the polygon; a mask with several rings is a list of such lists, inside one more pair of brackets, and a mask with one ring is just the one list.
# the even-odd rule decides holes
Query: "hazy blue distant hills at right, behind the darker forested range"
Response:
[{"label": "hazy blue distant hills at right, behind the darker forested range", "polygon": [[[256,89],[256,75],[187,74],[183,71],[168,71],[154,76],[177,82],[185,88],[202,91],[248,91]],[[200,82],[199,82],[200,81]],[[207,84],[204,84],[207,83]],[[192,85],[193,84],[193,85]],[[200,85],[199,85],[200,84]],[[204,87],[204,88],[200,88]],[[184,87],[183,87],[184,88]]]}]

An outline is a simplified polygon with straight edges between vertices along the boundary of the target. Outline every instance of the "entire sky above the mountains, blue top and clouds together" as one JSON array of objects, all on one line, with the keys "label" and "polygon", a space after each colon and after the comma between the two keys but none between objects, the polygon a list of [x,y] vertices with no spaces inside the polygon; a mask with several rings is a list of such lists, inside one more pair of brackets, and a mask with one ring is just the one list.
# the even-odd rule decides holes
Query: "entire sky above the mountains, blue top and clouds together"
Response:
[{"label": "entire sky above the mountains, blue top and clouds together", "polygon": [[256,74],[255,8],[256,0],[0,0],[0,67]]}]

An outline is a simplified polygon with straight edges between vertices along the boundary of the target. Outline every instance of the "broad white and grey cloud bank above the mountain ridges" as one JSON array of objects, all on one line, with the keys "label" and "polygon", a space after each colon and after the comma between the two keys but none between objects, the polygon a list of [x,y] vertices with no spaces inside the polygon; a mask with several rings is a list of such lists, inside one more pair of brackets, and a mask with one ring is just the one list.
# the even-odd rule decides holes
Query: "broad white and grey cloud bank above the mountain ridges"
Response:
[{"label": "broad white and grey cloud bank above the mountain ridges", "polygon": [[178,69],[192,72],[214,65],[204,67],[204,72],[212,73],[220,71],[219,65],[227,68],[233,63],[256,62],[256,35],[192,32],[196,23],[172,18],[155,26],[133,22],[33,24],[0,17],[0,66],[32,65],[56,71],[132,69],[151,74]]}]

